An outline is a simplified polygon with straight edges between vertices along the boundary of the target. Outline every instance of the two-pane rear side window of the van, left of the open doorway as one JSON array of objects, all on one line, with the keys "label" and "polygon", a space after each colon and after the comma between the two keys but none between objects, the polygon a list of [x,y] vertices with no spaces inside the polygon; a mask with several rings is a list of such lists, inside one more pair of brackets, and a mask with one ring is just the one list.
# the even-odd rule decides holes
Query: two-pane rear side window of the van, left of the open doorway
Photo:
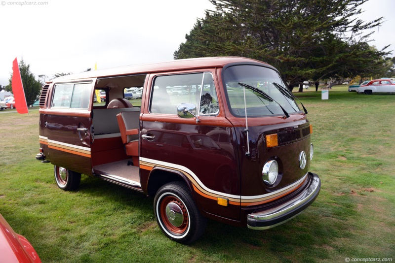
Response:
[{"label": "two-pane rear side window of the van, left of the open doorway", "polygon": [[55,85],[51,107],[87,109],[91,96],[91,83]]}]

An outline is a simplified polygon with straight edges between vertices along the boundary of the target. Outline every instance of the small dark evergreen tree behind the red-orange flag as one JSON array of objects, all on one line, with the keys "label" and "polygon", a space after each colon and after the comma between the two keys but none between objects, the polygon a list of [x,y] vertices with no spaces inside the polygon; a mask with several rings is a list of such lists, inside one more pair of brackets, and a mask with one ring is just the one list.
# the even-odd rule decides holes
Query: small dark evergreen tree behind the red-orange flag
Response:
[{"label": "small dark evergreen tree behind the red-orange flag", "polygon": [[[30,65],[25,64],[25,61],[23,59],[19,62],[18,66],[19,71],[21,72],[21,79],[23,89],[25,91],[26,103],[28,104],[28,106],[30,106],[39,97],[42,83],[40,83],[39,80],[36,80],[34,74],[30,72]],[[11,79],[12,74],[9,78],[9,84],[5,87],[5,90],[12,92]]]}]

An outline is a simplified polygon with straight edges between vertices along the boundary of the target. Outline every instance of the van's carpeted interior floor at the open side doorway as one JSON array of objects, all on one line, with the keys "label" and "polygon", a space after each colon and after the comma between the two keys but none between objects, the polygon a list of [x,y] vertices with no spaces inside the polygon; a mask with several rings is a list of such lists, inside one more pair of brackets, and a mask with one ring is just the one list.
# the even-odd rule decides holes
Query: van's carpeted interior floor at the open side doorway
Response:
[{"label": "van's carpeted interior floor at the open side doorway", "polygon": [[[132,159],[125,159],[122,161],[100,164],[93,167],[96,174],[121,177],[140,183],[139,167],[131,165]],[[130,165],[128,165],[128,163]]]}]

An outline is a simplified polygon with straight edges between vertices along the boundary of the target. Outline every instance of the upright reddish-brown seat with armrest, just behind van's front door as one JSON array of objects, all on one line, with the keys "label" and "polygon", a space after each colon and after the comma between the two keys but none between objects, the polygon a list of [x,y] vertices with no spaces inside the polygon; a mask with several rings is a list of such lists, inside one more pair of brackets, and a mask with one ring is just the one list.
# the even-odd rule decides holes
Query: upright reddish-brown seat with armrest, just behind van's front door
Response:
[{"label": "upright reddish-brown seat with armrest, just behind van's front door", "polygon": [[120,136],[125,146],[126,155],[131,156],[133,164],[139,163],[139,111],[122,111],[117,114]]}]

